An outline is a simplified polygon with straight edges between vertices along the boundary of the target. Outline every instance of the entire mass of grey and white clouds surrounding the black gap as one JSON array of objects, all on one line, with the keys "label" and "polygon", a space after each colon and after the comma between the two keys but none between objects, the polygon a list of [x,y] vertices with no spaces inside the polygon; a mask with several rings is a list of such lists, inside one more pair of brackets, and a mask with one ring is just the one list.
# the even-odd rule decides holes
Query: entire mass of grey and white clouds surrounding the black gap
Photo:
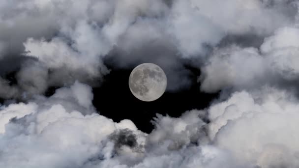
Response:
[{"label": "entire mass of grey and white clouds surrounding the black gap", "polygon": [[[0,167],[296,168],[297,22],[296,0],[2,0]],[[150,134],[100,115],[91,86],[143,62],[224,96]]]}]

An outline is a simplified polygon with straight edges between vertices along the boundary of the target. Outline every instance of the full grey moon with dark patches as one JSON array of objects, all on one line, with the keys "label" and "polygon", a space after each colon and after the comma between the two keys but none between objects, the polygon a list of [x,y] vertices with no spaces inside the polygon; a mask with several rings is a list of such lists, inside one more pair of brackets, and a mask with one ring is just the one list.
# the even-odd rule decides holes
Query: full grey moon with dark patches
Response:
[{"label": "full grey moon with dark patches", "polygon": [[129,87],[139,100],[150,102],[161,97],[167,86],[164,71],[156,64],[143,63],[130,74]]}]

